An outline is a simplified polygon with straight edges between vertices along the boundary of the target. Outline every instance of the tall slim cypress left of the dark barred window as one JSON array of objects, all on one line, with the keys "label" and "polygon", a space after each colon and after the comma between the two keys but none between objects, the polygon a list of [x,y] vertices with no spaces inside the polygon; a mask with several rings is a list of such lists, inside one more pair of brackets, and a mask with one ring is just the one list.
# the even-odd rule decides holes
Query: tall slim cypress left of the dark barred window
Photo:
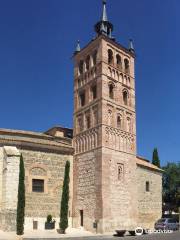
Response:
[{"label": "tall slim cypress left of the dark barred window", "polygon": [[24,161],[21,154],[19,163],[19,185],[18,185],[18,202],[16,217],[16,233],[24,234],[24,212],[25,212],[25,183],[24,183]]}]

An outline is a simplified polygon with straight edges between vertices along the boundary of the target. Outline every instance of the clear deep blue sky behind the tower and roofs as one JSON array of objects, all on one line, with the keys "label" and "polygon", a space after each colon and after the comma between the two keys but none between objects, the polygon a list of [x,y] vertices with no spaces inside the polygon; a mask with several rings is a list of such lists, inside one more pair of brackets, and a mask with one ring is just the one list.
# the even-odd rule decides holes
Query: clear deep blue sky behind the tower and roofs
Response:
[{"label": "clear deep blue sky behind the tower and roofs", "polygon": [[[180,1],[109,0],[114,36],[134,39],[138,154],[180,161]],[[72,127],[77,39],[94,37],[101,0],[0,1],[0,127]]]}]

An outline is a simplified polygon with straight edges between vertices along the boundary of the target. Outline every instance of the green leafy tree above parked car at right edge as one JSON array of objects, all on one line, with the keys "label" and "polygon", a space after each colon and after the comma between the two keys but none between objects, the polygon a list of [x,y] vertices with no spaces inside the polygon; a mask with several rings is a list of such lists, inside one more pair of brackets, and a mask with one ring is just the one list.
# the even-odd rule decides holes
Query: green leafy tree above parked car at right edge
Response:
[{"label": "green leafy tree above parked car at right edge", "polygon": [[169,211],[180,207],[180,162],[168,163],[163,167],[163,202]]}]

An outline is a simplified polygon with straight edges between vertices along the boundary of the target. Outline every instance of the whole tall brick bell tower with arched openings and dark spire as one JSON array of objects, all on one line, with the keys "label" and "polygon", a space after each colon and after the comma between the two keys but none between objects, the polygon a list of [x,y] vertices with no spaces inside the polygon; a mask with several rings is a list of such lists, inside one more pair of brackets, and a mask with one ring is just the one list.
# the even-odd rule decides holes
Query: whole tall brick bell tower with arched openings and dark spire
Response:
[{"label": "whole tall brick bell tower with arched openings and dark spire", "polygon": [[73,226],[105,233],[137,227],[135,52],[112,37],[106,1],[95,31],[74,54]]}]

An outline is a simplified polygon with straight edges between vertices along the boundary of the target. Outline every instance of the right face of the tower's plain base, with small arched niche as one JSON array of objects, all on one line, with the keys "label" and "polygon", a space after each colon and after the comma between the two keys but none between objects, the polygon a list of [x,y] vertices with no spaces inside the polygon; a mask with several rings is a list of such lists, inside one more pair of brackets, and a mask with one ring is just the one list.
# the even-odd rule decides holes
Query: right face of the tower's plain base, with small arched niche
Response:
[{"label": "right face of the tower's plain base, with small arched niche", "polygon": [[102,152],[103,232],[134,230],[138,218],[136,156],[110,148]]}]

